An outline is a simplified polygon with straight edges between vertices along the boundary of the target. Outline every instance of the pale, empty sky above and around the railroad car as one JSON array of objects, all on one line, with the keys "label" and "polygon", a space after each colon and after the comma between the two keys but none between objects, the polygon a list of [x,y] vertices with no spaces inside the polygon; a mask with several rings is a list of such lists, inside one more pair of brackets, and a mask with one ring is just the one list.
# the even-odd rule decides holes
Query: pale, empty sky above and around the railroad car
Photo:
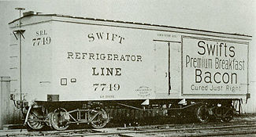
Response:
[{"label": "pale, empty sky above and around the railroad car", "polygon": [[25,8],[25,12],[32,10],[38,13],[58,13],[252,35],[252,99],[244,110],[256,112],[256,0],[0,1],[0,77],[9,76],[8,23],[19,17],[18,11],[14,9],[16,7]]}]

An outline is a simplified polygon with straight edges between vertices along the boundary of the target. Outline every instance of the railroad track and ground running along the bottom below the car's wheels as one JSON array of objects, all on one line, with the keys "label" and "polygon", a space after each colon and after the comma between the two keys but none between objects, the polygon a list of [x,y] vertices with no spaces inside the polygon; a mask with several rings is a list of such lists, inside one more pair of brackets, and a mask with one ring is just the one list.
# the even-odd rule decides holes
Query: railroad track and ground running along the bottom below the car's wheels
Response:
[{"label": "railroad track and ground running along the bottom below the car's wheels", "polygon": [[74,129],[62,132],[28,132],[26,129],[0,131],[0,136],[219,136],[256,135],[256,119],[236,118],[229,123],[163,124],[127,128]]}]

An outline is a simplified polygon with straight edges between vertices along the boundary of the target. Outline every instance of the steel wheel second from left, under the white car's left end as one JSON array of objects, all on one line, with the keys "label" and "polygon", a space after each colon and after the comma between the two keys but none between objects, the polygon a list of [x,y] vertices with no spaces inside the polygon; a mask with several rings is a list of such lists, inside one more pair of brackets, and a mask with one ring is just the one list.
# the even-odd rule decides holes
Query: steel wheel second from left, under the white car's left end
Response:
[{"label": "steel wheel second from left, under the white car's left end", "polygon": [[59,131],[69,128],[69,114],[63,108],[58,108],[50,115],[51,126]]}]

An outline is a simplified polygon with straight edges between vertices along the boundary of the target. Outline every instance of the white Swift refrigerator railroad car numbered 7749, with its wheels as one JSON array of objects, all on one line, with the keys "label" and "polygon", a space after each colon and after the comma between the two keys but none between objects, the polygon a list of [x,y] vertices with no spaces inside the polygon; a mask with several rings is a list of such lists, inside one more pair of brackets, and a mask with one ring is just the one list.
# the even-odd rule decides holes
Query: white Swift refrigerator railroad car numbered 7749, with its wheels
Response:
[{"label": "white Swift refrigerator railroad car numbered 7749, with its wheels", "polygon": [[11,91],[30,128],[102,128],[120,107],[230,121],[250,96],[248,35],[33,12],[9,28]]}]

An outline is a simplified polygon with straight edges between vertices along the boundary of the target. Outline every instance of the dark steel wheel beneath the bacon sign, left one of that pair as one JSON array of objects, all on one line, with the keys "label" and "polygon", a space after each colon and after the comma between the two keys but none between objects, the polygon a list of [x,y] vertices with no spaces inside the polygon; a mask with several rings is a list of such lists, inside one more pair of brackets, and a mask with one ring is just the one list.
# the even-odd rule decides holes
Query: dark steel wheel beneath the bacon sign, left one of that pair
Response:
[{"label": "dark steel wheel beneath the bacon sign, left one of that pair", "polygon": [[199,106],[196,111],[196,117],[198,121],[207,123],[210,120],[209,111],[206,105]]}]

